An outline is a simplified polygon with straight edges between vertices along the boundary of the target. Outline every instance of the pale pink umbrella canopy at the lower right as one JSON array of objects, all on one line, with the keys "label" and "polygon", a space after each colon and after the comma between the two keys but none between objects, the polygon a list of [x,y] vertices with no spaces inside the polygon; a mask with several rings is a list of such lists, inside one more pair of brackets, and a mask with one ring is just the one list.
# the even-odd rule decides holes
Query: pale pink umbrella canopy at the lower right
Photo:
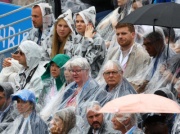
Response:
[{"label": "pale pink umbrella canopy at the lower right", "polygon": [[100,113],[180,113],[173,100],[155,94],[130,94],[106,103]]}]

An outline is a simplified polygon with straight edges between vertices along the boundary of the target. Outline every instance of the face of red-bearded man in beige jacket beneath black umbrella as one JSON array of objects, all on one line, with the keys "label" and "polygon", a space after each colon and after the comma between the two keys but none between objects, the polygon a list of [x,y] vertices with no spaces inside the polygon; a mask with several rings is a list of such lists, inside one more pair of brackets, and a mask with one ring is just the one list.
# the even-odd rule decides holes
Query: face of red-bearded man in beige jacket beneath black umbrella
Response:
[{"label": "face of red-bearded man in beige jacket beneath black umbrella", "polygon": [[132,45],[135,33],[130,32],[128,27],[121,27],[116,29],[116,36],[119,45],[123,48]]}]

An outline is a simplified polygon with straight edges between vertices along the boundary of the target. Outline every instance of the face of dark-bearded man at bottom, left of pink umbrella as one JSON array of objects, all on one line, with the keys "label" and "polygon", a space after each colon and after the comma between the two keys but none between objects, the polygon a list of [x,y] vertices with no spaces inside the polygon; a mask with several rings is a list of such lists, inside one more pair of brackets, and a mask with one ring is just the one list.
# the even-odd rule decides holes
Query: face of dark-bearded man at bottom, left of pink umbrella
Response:
[{"label": "face of dark-bearded man at bottom, left of pink umbrella", "polygon": [[87,120],[88,120],[89,125],[93,129],[97,130],[97,129],[101,128],[101,125],[103,122],[103,114],[89,110],[87,113]]}]

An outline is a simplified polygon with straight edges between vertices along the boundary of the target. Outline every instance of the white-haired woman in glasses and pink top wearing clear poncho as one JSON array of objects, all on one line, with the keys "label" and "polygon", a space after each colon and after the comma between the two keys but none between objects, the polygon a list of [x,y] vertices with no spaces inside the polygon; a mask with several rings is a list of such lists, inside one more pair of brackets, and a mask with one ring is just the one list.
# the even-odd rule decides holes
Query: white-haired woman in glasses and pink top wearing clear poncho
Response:
[{"label": "white-haired woman in glasses and pink top wearing clear poncho", "polygon": [[[51,114],[54,114],[56,110],[69,106],[76,107],[77,113],[84,116],[83,107],[86,106],[86,102],[94,97],[99,88],[98,83],[90,77],[90,65],[85,58],[74,57],[70,62],[70,70],[74,82],[67,85],[63,89],[63,93],[59,95],[59,98],[54,100],[53,103],[51,102],[49,107],[45,107],[41,112],[42,116],[45,116],[46,119]],[[52,110],[51,104],[57,104],[57,107]],[[47,115],[47,113],[49,114]]]}]

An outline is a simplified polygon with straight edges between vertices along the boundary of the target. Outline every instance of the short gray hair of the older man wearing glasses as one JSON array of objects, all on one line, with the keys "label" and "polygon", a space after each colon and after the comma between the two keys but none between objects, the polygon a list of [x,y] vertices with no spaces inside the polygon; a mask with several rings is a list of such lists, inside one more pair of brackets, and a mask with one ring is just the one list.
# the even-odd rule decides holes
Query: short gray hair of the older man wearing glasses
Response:
[{"label": "short gray hair of the older man wearing glasses", "polygon": [[119,71],[122,71],[122,72],[123,72],[123,70],[122,70],[122,68],[121,68],[121,65],[119,64],[119,62],[118,62],[117,60],[108,60],[108,61],[104,64],[104,66],[103,66],[103,68],[102,68],[102,73],[104,73],[105,70],[106,70],[109,66],[113,66],[113,65],[115,65],[115,66],[118,68]]}]

